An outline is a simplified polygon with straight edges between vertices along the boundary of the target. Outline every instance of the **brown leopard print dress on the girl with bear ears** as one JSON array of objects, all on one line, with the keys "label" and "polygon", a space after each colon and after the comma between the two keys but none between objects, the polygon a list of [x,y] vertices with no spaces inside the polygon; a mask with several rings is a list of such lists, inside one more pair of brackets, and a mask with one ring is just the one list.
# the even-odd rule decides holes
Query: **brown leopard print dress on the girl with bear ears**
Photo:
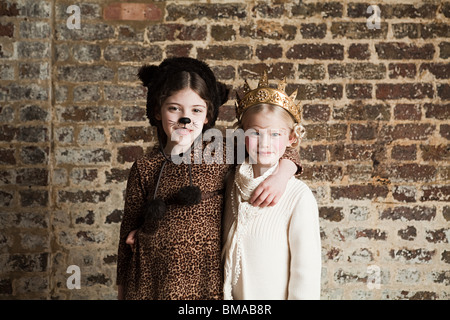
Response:
[{"label": "brown leopard print dress on the girl with bear ears", "polygon": [[[207,148],[204,144],[203,147]],[[204,149],[206,150],[206,149]],[[194,150],[191,153],[194,158]],[[298,153],[288,158],[300,168]],[[165,216],[143,224],[142,206],[153,196],[165,161],[159,148],[138,159],[128,178],[124,216],[120,228],[117,284],[125,299],[214,300],[223,298],[221,221],[225,178],[232,168],[225,152],[219,163],[191,164],[192,183],[202,191],[195,205],[168,204]],[[197,161],[198,162],[198,161]],[[166,162],[157,196],[169,199],[189,185],[189,165]],[[138,229],[135,248],[125,243]]]}]

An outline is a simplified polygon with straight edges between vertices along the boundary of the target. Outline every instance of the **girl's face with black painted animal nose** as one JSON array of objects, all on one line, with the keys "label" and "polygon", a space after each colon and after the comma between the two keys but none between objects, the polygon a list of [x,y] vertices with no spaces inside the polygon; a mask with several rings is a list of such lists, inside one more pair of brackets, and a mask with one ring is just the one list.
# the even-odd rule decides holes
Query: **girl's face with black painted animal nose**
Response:
[{"label": "girl's face with black painted animal nose", "polygon": [[183,89],[168,97],[161,106],[161,113],[155,116],[162,121],[167,135],[164,151],[170,153],[174,148],[177,153],[186,151],[208,122],[206,111],[206,102],[192,89]]}]

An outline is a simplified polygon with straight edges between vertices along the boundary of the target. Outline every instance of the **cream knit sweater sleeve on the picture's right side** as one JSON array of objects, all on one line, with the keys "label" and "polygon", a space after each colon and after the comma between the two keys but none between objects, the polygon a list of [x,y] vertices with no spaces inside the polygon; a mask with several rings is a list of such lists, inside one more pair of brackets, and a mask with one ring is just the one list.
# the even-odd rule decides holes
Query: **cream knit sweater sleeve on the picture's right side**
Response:
[{"label": "cream knit sweater sleeve on the picture's right side", "polygon": [[291,254],[288,299],[318,300],[321,283],[321,240],[316,199],[305,185],[289,224]]}]

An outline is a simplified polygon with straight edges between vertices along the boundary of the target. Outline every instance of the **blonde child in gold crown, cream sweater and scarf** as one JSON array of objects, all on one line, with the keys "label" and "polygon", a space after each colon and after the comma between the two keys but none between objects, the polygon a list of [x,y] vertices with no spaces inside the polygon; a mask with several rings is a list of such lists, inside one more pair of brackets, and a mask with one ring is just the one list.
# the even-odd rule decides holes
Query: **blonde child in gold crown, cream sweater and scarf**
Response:
[{"label": "blonde child in gold crown, cream sweater and scarf", "polygon": [[253,190],[277,169],[286,149],[299,148],[296,93],[285,81],[270,88],[267,74],[256,89],[246,83],[237,99],[238,126],[248,158],[227,184],[223,223],[224,298],[236,300],[319,299],[321,242],[317,202],[309,187],[292,177],[275,206],[248,203]]}]

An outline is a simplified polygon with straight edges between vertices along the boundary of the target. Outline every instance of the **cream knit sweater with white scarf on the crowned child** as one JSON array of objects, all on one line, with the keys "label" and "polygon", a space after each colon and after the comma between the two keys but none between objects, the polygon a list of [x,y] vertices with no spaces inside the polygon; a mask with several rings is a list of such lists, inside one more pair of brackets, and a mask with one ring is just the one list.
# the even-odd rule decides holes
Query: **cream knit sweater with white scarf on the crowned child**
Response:
[{"label": "cream knit sweater with white scarf on the crowned child", "polygon": [[240,165],[227,185],[224,215],[224,298],[226,300],[320,299],[321,243],[317,202],[292,177],[273,207],[247,200],[276,166],[253,178]]}]

